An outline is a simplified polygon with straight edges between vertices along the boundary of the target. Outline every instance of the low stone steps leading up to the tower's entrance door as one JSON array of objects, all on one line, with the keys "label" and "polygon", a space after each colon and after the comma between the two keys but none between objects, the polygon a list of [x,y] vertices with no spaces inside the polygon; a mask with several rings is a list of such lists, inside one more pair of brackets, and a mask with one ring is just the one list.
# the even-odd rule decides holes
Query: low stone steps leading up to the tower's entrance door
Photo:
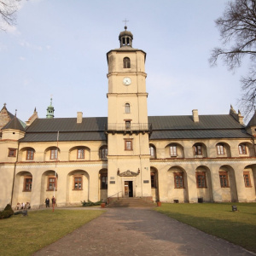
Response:
[{"label": "low stone steps leading up to the tower's entrance door", "polygon": [[119,198],[111,202],[107,207],[155,207],[153,201],[146,201],[143,198]]}]

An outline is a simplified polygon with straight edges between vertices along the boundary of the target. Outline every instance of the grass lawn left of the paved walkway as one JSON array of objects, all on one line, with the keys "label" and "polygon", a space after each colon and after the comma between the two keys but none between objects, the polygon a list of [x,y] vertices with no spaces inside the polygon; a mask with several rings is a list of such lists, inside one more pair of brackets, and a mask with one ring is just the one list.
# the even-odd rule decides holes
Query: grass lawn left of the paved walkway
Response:
[{"label": "grass lawn left of the paved walkway", "polygon": [[71,233],[103,211],[61,210],[28,211],[0,219],[0,255],[31,255]]}]

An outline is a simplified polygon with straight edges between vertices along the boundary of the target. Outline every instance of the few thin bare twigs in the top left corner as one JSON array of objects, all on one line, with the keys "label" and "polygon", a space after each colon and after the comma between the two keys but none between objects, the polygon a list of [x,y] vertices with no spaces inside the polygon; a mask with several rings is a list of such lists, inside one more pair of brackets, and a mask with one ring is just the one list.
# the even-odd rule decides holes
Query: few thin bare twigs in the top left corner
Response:
[{"label": "few thin bare twigs in the top left corner", "polygon": [[9,26],[15,24],[18,2],[20,0],[0,0],[0,30],[5,30],[5,26],[1,26],[1,23]]}]

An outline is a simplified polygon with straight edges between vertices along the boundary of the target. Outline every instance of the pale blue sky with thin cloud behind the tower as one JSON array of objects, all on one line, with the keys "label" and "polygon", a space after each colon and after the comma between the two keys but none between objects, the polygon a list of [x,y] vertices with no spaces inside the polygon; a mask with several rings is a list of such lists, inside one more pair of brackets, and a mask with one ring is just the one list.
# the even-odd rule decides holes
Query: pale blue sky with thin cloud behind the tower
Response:
[{"label": "pale blue sky with thin cloud behind the tower", "polygon": [[225,114],[237,110],[239,79],[221,61],[216,20],[224,0],[29,0],[17,21],[0,32],[0,108],[26,121],[45,118],[52,95],[55,118],[108,115],[106,53],[119,48],[124,22],[133,47],[147,53],[148,115]]}]

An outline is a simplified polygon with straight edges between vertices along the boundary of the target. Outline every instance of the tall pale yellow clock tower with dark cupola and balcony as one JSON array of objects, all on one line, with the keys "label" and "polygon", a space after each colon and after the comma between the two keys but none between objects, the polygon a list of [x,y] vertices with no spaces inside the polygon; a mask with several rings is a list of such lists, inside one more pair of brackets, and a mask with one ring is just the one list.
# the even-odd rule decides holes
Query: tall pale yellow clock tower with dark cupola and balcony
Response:
[{"label": "tall pale yellow clock tower with dark cupola and balcony", "polygon": [[146,53],[119,34],[108,59],[108,197],[150,197]]}]

